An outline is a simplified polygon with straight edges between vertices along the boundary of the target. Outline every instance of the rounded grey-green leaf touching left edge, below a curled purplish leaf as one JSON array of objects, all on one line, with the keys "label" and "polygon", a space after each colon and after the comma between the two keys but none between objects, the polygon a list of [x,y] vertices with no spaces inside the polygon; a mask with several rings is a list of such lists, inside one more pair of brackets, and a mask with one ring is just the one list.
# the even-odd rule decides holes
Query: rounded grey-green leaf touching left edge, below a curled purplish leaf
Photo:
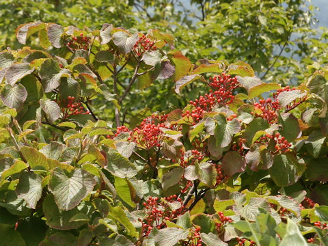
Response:
[{"label": "rounded grey-green leaf touching left edge, below a curled purplish leaf", "polygon": [[20,109],[27,98],[27,90],[23,85],[5,85],[0,93],[3,104],[10,108]]}]

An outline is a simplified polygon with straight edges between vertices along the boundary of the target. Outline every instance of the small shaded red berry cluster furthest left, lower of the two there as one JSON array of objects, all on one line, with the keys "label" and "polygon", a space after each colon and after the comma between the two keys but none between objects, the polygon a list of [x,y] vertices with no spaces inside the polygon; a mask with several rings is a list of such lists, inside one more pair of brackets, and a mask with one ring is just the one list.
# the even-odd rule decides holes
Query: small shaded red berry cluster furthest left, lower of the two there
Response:
[{"label": "small shaded red berry cluster furthest left, lower of the two there", "polygon": [[86,111],[82,106],[81,102],[76,102],[74,96],[68,96],[66,99],[55,100],[61,106],[61,112],[63,113],[63,120],[68,118],[70,115],[78,114],[90,114],[89,111]]}]

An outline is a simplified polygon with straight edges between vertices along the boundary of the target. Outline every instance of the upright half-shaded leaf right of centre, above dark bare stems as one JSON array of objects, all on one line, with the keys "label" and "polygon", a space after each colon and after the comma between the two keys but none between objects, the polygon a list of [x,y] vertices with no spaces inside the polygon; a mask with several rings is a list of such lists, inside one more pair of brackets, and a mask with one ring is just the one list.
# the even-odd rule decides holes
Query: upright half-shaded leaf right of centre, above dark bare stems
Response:
[{"label": "upright half-shaded leaf right of centre, above dark bare stems", "polygon": [[214,187],[217,183],[217,169],[213,163],[195,163],[195,172],[200,181],[208,187]]}]

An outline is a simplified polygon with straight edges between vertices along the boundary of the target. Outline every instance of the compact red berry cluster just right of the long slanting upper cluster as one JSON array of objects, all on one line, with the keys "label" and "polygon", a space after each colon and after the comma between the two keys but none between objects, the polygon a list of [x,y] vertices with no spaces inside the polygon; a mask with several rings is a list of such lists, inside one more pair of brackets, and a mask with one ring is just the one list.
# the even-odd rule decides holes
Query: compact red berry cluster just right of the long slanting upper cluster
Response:
[{"label": "compact red berry cluster just right of the long slanting upper cluster", "polygon": [[256,117],[261,117],[270,124],[277,122],[277,110],[280,109],[279,102],[271,98],[267,98],[267,100],[261,99],[259,102],[254,103],[254,106],[262,112],[256,113]]}]

